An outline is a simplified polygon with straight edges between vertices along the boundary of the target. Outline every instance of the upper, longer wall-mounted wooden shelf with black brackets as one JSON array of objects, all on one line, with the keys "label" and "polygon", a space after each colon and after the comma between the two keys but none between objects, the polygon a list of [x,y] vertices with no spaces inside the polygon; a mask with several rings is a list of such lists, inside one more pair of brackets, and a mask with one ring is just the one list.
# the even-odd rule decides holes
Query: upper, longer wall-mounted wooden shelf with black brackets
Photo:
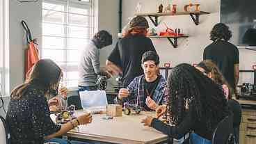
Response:
[{"label": "upper, longer wall-mounted wooden shelf with black brackets", "polygon": [[[199,24],[199,16],[207,15],[209,12],[198,11],[198,12],[176,12],[176,13],[137,13],[137,16],[149,17],[154,26],[158,26],[158,17],[161,16],[175,16],[175,15],[190,15],[195,25]],[[154,17],[154,18],[153,18]]]}]

